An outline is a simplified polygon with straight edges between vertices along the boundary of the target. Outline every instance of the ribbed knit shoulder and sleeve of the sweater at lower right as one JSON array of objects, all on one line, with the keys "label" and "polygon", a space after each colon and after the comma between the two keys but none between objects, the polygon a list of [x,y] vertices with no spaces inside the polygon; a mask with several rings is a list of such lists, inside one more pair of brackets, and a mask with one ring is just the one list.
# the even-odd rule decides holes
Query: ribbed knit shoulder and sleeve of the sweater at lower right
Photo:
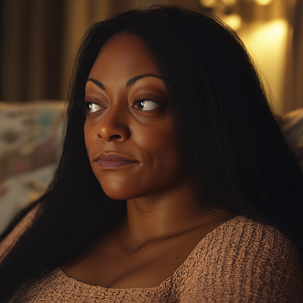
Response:
[{"label": "ribbed knit shoulder and sleeve of the sweater at lower right", "polygon": [[298,249],[262,222],[244,216],[225,222],[199,243],[191,258],[186,302],[282,303],[300,302],[303,296]]}]

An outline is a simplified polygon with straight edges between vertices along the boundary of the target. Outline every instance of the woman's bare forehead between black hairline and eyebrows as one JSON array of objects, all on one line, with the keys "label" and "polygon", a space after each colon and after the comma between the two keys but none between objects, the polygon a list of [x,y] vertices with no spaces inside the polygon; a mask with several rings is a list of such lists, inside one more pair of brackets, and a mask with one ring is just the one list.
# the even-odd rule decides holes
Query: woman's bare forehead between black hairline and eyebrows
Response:
[{"label": "woman's bare forehead between black hairline and eyebrows", "polygon": [[160,75],[142,39],[124,34],[115,36],[100,50],[89,78],[105,81],[144,74]]}]

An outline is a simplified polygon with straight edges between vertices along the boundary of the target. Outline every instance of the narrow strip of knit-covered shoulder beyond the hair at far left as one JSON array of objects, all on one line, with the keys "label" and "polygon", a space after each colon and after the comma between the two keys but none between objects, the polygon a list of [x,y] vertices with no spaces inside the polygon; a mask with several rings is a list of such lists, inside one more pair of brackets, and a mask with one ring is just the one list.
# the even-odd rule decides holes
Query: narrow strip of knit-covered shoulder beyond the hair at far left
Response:
[{"label": "narrow strip of knit-covered shoulder beyond the hair at far left", "polygon": [[22,220],[14,227],[14,229],[0,242],[0,262],[14,247],[20,236],[31,225],[35,214],[37,213],[39,205],[35,206],[29,211]]}]

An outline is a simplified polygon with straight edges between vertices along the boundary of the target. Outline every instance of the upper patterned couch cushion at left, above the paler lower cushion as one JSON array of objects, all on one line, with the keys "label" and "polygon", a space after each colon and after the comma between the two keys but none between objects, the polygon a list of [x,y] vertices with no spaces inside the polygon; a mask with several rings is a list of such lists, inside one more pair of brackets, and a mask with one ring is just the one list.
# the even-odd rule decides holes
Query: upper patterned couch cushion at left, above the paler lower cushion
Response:
[{"label": "upper patterned couch cushion at left, above the paler lower cushion", "polygon": [[58,161],[65,101],[0,102],[0,182]]}]

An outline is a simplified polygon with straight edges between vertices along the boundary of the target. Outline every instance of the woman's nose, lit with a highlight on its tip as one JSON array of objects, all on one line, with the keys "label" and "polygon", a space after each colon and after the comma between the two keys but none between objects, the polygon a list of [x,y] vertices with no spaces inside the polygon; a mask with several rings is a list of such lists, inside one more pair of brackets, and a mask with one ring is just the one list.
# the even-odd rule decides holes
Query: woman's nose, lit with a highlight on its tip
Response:
[{"label": "woman's nose, lit with a highlight on its tip", "polygon": [[111,106],[103,116],[98,126],[98,138],[107,142],[126,141],[130,137],[129,118],[127,109]]}]

